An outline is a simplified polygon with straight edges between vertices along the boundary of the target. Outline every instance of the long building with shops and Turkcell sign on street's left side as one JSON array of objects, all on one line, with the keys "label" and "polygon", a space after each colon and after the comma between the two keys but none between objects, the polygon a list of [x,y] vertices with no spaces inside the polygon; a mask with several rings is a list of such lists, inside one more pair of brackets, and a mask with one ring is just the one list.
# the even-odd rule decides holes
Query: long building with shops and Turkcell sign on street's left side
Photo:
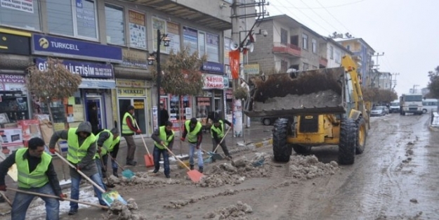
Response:
[{"label": "long building with shops and Turkcell sign on street's left side", "polygon": [[[8,106],[18,100],[27,103],[20,112],[25,119],[48,112],[48,106],[27,92],[25,73],[30,63],[44,70],[50,56],[62,59],[70,71],[83,77],[73,97],[52,103],[51,109],[58,112],[55,123],[75,127],[88,120],[88,106],[97,105],[99,126],[111,128],[120,122],[126,107],[133,105],[140,129],[151,134],[158,103],[146,60],[157,51],[157,29],[171,39],[169,47],[161,45],[162,63],[171,50],[189,46],[191,51],[208,55],[202,68],[204,79],[218,84],[228,80],[223,65],[223,31],[231,29],[228,6],[228,1],[218,0],[1,1],[0,78],[4,86],[0,112],[13,117],[14,110]],[[176,106],[181,101],[188,110],[184,117],[198,116],[200,105],[223,103],[222,93],[209,92],[226,89],[220,87],[204,88],[207,93],[202,96],[208,96],[209,103],[166,93],[161,94],[161,102],[177,122]]]}]

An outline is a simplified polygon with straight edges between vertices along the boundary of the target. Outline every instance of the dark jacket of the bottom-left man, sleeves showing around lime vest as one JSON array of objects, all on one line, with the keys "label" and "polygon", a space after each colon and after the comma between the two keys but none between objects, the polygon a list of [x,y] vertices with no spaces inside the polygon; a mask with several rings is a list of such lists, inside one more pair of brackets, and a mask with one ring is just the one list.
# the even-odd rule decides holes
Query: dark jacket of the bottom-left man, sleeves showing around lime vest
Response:
[{"label": "dark jacket of the bottom-left man, sleeves showing around lime vest", "polygon": [[[32,157],[29,154],[29,150],[26,150],[25,155],[23,155],[24,159],[27,159],[27,163],[29,164],[29,172],[33,172],[37,165],[41,162],[41,157]],[[9,167],[15,164],[15,152],[6,157],[6,159],[0,163],[0,185],[5,185],[5,176],[8,174]],[[48,169],[46,171],[46,175],[48,177],[48,183],[51,184],[55,195],[61,195],[63,193],[60,187],[60,181],[58,181],[58,176],[56,176],[55,168],[53,167],[53,163],[48,164]]]}]

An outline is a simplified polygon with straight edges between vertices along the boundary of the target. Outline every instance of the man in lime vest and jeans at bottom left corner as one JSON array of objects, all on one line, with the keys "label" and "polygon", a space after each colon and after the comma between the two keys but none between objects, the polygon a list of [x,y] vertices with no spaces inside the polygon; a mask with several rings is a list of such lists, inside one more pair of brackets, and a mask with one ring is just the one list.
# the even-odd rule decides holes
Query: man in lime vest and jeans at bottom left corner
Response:
[{"label": "man in lime vest and jeans at bottom left corner", "polygon": [[[43,193],[59,196],[63,200],[66,196],[61,191],[60,182],[56,176],[52,163],[52,156],[44,152],[44,143],[41,138],[31,138],[28,148],[20,148],[0,163],[0,190],[6,191],[5,176],[9,167],[17,164],[18,188],[32,193]],[[11,219],[25,220],[27,208],[35,195],[16,193],[12,205]],[[60,219],[60,202],[55,198],[40,196],[46,202],[46,219]]]}]

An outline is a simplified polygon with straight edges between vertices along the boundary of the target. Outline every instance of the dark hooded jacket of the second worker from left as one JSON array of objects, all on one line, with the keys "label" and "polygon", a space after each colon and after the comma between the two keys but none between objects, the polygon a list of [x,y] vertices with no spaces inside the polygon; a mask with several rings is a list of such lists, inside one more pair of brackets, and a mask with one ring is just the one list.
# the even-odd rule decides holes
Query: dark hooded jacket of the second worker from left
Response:
[{"label": "dark hooded jacket of the second worker from left", "polygon": [[[90,122],[81,122],[81,124],[79,124],[78,129],[77,129],[77,134],[80,131],[84,131],[87,132],[89,134],[91,134],[91,124]],[[69,136],[69,131],[68,130],[63,130],[63,131],[56,131],[51,138],[51,142],[49,143],[48,147],[49,148],[55,148],[55,144],[58,142],[58,140],[64,139],[67,140]],[[85,141],[85,138],[81,138],[81,136],[78,136],[78,142],[79,145],[81,145],[83,142]],[[79,166],[81,169],[81,172],[83,172],[84,174],[86,174],[86,176],[92,176],[93,174],[98,173],[98,168],[96,167],[96,163],[95,163],[95,157],[96,155],[96,141],[93,142],[90,146],[89,149],[87,150],[87,154],[84,158],[82,158],[81,162],[79,162],[78,164],[74,164],[75,166]],[[70,169],[70,176],[72,177],[77,177],[79,174],[78,172],[76,172],[75,169]]]}]

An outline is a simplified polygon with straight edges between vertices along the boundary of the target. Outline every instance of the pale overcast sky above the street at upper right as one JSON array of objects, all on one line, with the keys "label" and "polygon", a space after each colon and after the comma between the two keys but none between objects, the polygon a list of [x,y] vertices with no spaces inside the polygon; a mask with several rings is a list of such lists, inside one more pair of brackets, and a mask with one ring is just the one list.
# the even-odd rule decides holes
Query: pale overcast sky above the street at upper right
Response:
[{"label": "pale overcast sky above the street at upper right", "polygon": [[428,84],[428,72],[439,65],[437,0],[269,0],[271,15],[287,14],[328,36],[349,32],[378,53],[379,71],[400,73],[398,96]]}]

